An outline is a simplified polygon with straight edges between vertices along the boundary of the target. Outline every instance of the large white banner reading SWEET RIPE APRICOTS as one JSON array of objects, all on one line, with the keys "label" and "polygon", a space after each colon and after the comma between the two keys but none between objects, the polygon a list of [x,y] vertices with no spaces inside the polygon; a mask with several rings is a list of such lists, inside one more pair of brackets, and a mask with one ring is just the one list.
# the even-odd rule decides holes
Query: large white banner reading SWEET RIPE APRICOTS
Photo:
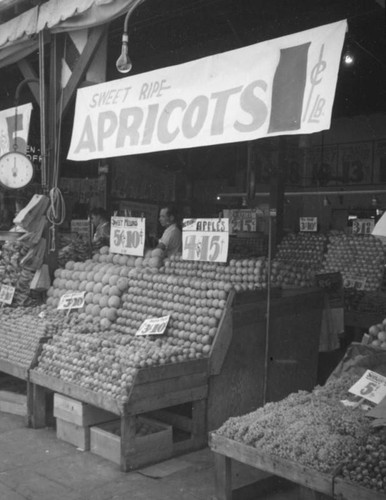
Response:
[{"label": "large white banner reading SWEET RIPE APRICOTS", "polygon": [[79,89],[83,161],[330,127],[347,22]]}]

